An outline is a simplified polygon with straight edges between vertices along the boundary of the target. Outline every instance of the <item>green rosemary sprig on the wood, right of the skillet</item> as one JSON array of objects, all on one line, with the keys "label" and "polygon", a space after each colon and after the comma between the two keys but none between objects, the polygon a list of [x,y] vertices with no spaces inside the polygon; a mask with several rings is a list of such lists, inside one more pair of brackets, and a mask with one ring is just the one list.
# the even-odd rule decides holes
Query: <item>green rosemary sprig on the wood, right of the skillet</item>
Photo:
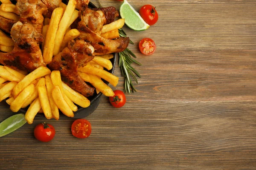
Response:
[{"label": "green rosemary sprig on the wood, right of the skillet", "polygon": [[[120,37],[127,37],[125,34],[125,31],[120,28],[119,30],[119,35]],[[134,44],[131,40],[130,40],[131,44]],[[132,63],[136,63],[138,65],[141,65],[140,62],[136,61],[134,58],[137,58],[136,55],[129,50],[128,48],[126,48],[124,51],[119,52],[119,67],[121,68],[121,72],[122,72],[122,76],[125,77],[125,84],[124,84],[124,92],[128,92],[131,93],[136,91],[136,89],[134,88],[133,82],[131,77],[134,79],[134,81],[138,84],[138,80],[135,77],[135,75],[137,75],[138,77],[141,77],[140,74],[138,73],[138,71],[136,71],[131,64]]]}]

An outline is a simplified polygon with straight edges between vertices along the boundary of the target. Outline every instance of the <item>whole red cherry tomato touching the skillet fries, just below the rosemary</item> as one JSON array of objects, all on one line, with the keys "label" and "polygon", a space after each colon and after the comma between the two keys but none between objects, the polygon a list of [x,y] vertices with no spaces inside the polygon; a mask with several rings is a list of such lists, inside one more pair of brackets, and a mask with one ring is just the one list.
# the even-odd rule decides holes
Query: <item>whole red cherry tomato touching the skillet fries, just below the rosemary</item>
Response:
[{"label": "whole red cherry tomato touching the skillet fries, just below the rosemary", "polygon": [[126,102],[125,94],[119,90],[115,90],[114,94],[115,95],[113,97],[109,97],[109,101],[113,107],[121,108]]}]

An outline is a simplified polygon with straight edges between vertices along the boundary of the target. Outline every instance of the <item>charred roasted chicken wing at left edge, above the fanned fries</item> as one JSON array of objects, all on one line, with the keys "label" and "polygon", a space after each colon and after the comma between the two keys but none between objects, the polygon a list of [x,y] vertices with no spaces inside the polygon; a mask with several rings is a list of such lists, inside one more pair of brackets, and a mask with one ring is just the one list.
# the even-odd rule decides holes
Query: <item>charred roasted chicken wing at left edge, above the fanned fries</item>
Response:
[{"label": "charred roasted chicken wing at left edge, above the fanned fries", "polygon": [[38,43],[44,37],[31,24],[15,23],[11,30],[15,42],[13,51],[0,53],[0,63],[14,69],[33,71],[44,64]]}]

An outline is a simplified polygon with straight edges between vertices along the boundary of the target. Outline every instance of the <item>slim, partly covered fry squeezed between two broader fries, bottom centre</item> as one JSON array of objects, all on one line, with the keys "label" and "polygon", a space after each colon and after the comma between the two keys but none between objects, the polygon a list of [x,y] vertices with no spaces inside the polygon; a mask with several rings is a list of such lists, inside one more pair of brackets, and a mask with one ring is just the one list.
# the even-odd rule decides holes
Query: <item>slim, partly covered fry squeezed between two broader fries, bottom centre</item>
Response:
[{"label": "slim, partly covered fry squeezed between two broader fries, bottom centre", "polygon": [[52,84],[52,79],[51,79],[50,75],[45,76],[45,84],[46,84],[47,94],[48,94],[51,109],[52,109],[52,117],[54,119],[58,120],[60,118],[60,114],[58,111],[58,107],[52,98],[52,89],[54,88],[54,86]]}]

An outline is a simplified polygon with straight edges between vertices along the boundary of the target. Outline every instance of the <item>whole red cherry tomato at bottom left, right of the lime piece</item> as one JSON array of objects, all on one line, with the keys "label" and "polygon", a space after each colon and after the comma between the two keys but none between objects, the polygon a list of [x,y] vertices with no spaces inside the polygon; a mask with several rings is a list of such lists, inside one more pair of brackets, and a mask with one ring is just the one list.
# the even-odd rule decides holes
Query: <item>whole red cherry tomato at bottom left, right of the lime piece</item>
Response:
[{"label": "whole red cherry tomato at bottom left, right of the lime piece", "polygon": [[34,136],[41,142],[49,142],[55,136],[55,129],[47,123],[40,123],[34,129]]}]

